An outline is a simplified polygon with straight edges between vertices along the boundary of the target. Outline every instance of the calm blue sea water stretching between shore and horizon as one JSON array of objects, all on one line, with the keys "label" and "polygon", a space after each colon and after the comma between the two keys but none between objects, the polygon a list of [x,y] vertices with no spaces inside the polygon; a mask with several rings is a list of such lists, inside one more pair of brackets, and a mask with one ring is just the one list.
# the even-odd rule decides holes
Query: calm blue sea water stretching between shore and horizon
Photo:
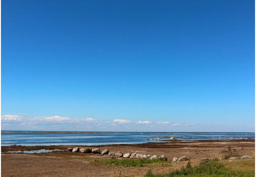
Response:
[{"label": "calm blue sea water stretching between shore and horizon", "polygon": [[1,146],[140,144],[170,137],[184,141],[254,139],[255,133],[1,131]]}]

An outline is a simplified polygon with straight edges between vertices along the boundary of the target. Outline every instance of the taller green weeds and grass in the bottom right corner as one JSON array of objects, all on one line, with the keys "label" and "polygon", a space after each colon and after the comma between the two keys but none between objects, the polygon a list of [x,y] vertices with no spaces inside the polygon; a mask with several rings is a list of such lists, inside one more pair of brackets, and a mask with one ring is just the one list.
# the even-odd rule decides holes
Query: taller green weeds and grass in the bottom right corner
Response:
[{"label": "taller green weeds and grass in the bottom right corner", "polygon": [[180,170],[172,171],[164,175],[154,175],[151,170],[144,177],[248,177],[255,176],[254,172],[232,171],[224,166],[218,159],[201,162],[199,165],[192,167],[190,161],[186,167]]}]

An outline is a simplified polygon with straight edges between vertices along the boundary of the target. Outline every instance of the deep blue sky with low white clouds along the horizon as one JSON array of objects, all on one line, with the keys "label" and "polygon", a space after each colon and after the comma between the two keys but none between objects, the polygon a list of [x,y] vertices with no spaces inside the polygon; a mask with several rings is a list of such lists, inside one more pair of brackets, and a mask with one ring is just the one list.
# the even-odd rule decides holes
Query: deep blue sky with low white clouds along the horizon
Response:
[{"label": "deep blue sky with low white clouds along the horizon", "polygon": [[254,0],[2,0],[1,129],[255,131]]}]

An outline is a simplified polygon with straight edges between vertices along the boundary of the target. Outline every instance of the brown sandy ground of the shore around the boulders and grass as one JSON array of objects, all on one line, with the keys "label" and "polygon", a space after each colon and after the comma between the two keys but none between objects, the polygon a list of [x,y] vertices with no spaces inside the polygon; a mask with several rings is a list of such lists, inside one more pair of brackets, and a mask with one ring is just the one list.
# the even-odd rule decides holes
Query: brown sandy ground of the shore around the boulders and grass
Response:
[{"label": "brown sandy ground of the shore around the boulders and grass", "polygon": [[[8,146],[1,147],[1,177],[143,177],[149,169],[153,174],[165,174],[175,169],[186,166],[188,162],[177,163],[152,163],[143,167],[122,167],[103,165],[96,163],[103,159],[111,159],[112,156],[54,151],[49,153],[25,154],[7,153],[17,150],[66,149],[84,148],[88,146]],[[255,140],[207,140],[198,142],[167,142],[146,143],[136,145],[104,145],[94,146],[101,151],[108,149],[110,152],[122,151],[123,153],[143,153],[150,155],[165,155],[169,161],[173,157],[191,157],[192,166],[198,165],[203,158],[222,158],[225,154],[232,157],[249,155],[253,159],[246,159],[250,167],[255,171]],[[228,150],[229,147],[229,150]],[[231,149],[231,150],[230,150]],[[235,149],[235,150],[234,150]],[[123,157],[115,157],[123,159]],[[234,163],[242,160],[221,160],[226,167],[237,170]],[[239,164],[239,163],[236,163]],[[252,167],[252,164],[253,167]],[[235,168],[235,169],[233,169]],[[238,169],[239,170],[239,169]]]}]

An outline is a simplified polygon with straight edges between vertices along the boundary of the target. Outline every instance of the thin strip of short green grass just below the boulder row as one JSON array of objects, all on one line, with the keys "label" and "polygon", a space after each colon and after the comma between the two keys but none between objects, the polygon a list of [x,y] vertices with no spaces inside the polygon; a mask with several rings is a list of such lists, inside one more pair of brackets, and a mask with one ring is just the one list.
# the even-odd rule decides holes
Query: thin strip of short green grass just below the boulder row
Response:
[{"label": "thin strip of short green grass just below the boulder row", "polygon": [[102,161],[95,160],[95,163],[100,163],[104,165],[119,165],[123,167],[143,167],[146,166],[147,164],[152,164],[152,163],[169,163],[167,161],[163,161],[161,159],[116,159],[116,158],[111,158],[111,159],[104,159]]}]

